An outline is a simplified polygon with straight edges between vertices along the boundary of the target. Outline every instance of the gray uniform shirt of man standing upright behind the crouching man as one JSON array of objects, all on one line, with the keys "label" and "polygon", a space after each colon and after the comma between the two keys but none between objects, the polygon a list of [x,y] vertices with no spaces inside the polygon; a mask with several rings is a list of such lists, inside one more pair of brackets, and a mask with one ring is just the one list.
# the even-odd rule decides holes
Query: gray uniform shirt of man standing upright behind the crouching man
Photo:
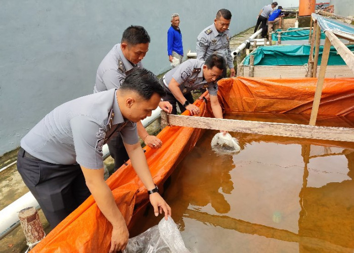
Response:
[{"label": "gray uniform shirt of man standing upright behind the crouching man", "polygon": [[215,25],[206,27],[197,37],[197,59],[205,61],[212,54],[224,57],[229,68],[234,68],[230,50],[230,30],[218,32]]}]

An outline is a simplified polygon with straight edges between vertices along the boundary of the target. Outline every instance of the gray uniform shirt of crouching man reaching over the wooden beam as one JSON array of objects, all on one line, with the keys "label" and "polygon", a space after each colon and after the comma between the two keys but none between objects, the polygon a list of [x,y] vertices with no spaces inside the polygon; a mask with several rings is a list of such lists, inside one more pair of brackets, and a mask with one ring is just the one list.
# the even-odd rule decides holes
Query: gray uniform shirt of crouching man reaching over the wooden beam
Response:
[{"label": "gray uniform shirt of crouching man reaching over the wooden beam", "polygon": [[204,61],[197,59],[187,60],[178,67],[168,71],[162,78],[163,82],[168,89],[169,82],[174,78],[179,83],[183,94],[201,88],[208,88],[210,95],[217,96],[217,83],[207,82],[204,79],[203,66]]}]

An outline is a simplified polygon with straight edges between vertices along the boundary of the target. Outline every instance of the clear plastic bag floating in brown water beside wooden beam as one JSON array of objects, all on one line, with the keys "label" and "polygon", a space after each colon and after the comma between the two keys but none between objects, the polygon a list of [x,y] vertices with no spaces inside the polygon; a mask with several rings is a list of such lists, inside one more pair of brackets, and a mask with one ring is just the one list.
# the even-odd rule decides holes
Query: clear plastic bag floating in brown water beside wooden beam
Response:
[{"label": "clear plastic bag floating in brown water beside wooden beam", "polygon": [[224,136],[222,133],[217,133],[211,140],[211,149],[219,155],[233,155],[240,152],[239,142],[229,133]]}]

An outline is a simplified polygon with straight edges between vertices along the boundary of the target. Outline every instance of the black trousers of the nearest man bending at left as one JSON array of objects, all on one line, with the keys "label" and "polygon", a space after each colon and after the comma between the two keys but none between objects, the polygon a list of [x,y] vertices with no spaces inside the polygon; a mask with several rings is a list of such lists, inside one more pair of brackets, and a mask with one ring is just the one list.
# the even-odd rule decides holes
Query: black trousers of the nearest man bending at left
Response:
[{"label": "black trousers of the nearest man bending at left", "polygon": [[25,150],[20,148],[17,170],[55,228],[91,194],[80,165],[53,164],[24,154]]}]

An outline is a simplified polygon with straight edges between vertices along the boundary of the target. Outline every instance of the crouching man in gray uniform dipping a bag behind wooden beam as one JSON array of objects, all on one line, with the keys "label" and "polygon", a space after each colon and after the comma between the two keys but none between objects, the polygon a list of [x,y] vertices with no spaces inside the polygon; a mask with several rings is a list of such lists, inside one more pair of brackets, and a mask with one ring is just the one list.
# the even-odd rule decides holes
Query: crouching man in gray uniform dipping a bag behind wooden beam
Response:
[{"label": "crouching man in gray uniform dipping a bag behind wooden beam", "polygon": [[[172,114],[176,114],[176,101],[180,108],[190,111],[191,115],[200,113],[199,107],[185,98],[193,90],[208,88],[210,105],[215,118],[223,118],[223,111],[217,99],[217,80],[226,67],[225,59],[219,55],[210,55],[206,61],[190,59],[176,68],[172,68],[162,78],[167,94],[164,101],[172,104]],[[220,131],[225,133],[225,131]]]}]

